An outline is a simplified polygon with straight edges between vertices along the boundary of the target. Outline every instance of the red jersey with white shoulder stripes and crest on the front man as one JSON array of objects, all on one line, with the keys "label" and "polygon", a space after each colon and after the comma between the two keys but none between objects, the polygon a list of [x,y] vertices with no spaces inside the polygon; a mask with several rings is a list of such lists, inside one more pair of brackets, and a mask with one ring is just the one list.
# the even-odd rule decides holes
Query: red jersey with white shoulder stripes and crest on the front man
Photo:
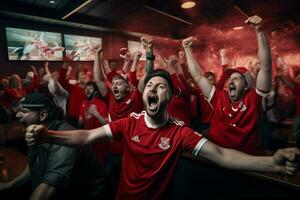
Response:
[{"label": "red jersey with white shoulder stripes and crest on the front man", "polygon": [[110,139],[124,142],[116,199],[167,199],[181,153],[198,155],[207,141],[173,117],[154,126],[144,111],[104,128]]}]

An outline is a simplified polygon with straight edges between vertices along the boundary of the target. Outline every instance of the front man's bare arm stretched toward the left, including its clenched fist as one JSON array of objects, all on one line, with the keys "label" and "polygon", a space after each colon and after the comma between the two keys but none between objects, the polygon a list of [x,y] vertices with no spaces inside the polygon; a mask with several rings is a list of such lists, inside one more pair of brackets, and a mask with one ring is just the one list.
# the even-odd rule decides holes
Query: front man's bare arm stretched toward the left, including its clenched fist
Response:
[{"label": "front man's bare arm stretched toward the left, including its clenched fist", "polygon": [[107,134],[103,126],[91,130],[52,131],[43,125],[30,125],[26,129],[25,140],[28,146],[47,142],[66,146],[83,146],[107,142]]}]

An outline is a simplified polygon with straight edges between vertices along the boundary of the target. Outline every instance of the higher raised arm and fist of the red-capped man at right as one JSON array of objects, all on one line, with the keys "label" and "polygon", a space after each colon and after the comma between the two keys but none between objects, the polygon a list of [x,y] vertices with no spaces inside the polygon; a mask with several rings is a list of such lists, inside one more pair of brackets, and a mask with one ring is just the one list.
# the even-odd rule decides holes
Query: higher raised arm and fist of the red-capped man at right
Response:
[{"label": "higher raised arm and fist of the red-capped man at right", "polygon": [[256,88],[263,92],[269,92],[272,89],[272,59],[269,43],[263,32],[262,22],[263,20],[257,15],[249,17],[245,21],[245,23],[255,28],[258,42],[260,71],[257,74]]}]

